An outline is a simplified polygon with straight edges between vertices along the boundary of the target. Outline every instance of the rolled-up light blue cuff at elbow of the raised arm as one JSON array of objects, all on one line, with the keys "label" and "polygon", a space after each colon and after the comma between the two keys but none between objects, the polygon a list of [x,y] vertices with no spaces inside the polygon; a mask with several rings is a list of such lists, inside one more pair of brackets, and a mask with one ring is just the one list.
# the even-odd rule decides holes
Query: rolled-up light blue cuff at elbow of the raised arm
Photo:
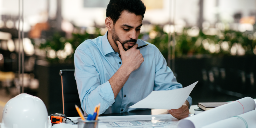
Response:
[{"label": "rolled-up light blue cuff at elbow of the raised arm", "polygon": [[106,83],[98,86],[96,90],[99,92],[99,95],[102,97],[102,99],[108,103],[113,104],[115,102],[115,95],[113,93],[113,90],[111,88],[111,85],[109,81]]}]

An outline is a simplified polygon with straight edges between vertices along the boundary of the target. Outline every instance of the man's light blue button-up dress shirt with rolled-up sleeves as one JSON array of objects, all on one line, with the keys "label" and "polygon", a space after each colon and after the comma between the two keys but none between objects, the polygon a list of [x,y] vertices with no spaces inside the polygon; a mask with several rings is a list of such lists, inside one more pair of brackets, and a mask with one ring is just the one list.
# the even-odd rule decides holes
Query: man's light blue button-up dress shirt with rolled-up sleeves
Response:
[{"label": "man's light blue button-up dress shirt with rolled-up sleeves", "polygon": [[[137,43],[139,46],[149,44],[139,49],[144,62],[130,74],[116,99],[108,80],[120,68],[122,60],[109,44],[107,33],[78,46],[74,55],[75,79],[82,109],[87,114],[93,114],[99,103],[100,114],[138,110],[128,107],[153,90],[182,88],[158,48],[140,39]],[[189,96],[187,100],[191,106],[192,98]]]}]

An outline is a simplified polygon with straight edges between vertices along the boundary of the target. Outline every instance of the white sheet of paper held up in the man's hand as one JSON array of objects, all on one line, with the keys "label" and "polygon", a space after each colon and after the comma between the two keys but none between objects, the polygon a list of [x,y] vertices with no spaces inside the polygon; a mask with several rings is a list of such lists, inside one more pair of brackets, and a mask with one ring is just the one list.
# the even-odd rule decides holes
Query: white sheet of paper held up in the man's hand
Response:
[{"label": "white sheet of paper held up in the man's hand", "polygon": [[129,108],[179,109],[184,104],[197,82],[184,88],[152,91],[146,98]]}]

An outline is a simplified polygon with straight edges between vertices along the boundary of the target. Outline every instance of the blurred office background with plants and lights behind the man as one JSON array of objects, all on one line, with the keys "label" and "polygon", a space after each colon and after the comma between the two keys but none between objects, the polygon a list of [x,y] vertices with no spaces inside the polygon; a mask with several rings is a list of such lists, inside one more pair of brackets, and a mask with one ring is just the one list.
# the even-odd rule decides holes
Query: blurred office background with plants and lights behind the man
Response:
[{"label": "blurred office background with plants and lights behind the man", "polygon": [[[184,87],[199,80],[193,105],[256,98],[256,0],[142,1],[139,38],[159,48]],[[22,11],[22,0],[0,0],[0,108],[24,91],[62,113],[59,70],[74,69],[79,44],[105,34],[108,2],[23,0]]]}]

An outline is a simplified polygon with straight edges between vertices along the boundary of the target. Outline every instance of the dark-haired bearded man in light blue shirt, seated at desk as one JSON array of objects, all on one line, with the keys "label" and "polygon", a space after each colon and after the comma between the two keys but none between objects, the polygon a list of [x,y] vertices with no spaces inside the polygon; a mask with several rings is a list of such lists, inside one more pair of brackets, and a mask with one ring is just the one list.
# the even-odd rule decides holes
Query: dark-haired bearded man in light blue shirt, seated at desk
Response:
[{"label": "dark-haired bearded man in light blue shirt, seated at desk", "polygon": [[[146,7],[141,0],[110,0],[106,34],[86,40],[75,51],[75,79],[82,109],[92,114],[136,110],[128,108],[153,90],[182,88],[154,45],[138,39]],[[138,46],[149,44],[141,49]],[[166,101],[168,102],[168,101]],[[177,119],[188,117],[192,98],[168,110]]]}]

